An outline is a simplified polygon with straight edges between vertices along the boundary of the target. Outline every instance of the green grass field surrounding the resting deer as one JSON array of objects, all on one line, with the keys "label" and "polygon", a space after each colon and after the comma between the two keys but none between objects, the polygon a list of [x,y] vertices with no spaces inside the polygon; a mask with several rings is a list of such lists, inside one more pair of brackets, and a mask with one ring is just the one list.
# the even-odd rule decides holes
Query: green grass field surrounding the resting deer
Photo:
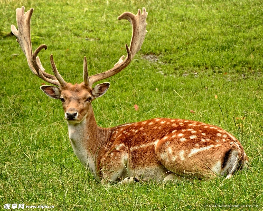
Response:
[{"label": "green grass field surrounding the resting deer", "polygon": [[[7,203],[55,207],[45,210],[230,209],[209,207],[218,204],[263,209],[262,0],[0,0],[0,5],[1,209]],[[53,54],[71,83],[83,80],[84,56],[92,75],[125,54],[131,27],[117,17],[145,7],[148,33],[142,49],[124,71],[104,80],[111,87],[93,102],[98,125],[155,117],[215,124],[239,139],[249,169],[229,180],[98,183],[74,155],[61,102],[39,89],[43,81],[31,73],[10,35],[15,10],[23,5],[34,8],[33,50],[48,46],[39,54],[44,68],[51,73]]]}]

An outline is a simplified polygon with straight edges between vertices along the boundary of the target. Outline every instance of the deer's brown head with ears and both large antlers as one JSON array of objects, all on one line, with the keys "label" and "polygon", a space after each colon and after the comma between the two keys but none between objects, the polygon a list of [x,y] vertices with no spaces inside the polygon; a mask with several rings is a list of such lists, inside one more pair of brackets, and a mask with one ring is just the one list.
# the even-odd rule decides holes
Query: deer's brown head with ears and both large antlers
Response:
[{"label": "deer's brown head with ears and both large antlers", "polygon": [[[50,55],[50,64],[54,75],[45,72],[41,65],[41,61],[37,56],[42,49],[47,49],[47,45],[40,45],[33,53],[31,36],[30,36],[30,20],[33,13],[33,8],[24,13],[24,6],[16,9],[18,30],[14,25],[11,26],[13,34],[17,37],[17,42],[20,44],[27,58],[27,63],[32,73],[36,76],[53,84],[55,86],[43,85],[41,90],[51,98],[60,99],[62,101],[65,112],[65,119],[71,123],[79,123],[87,115],[90,103],[98,97],[101,97],[108,90],[110,83],[105,82],[97,84],[92,88],[92,85],[100,80],[109,78],[122,71],[129,65],[135,54],[141,49],[146,31],[146,17],[148,13],[145,8],[143,12],[138,9],[137,15],[130,12],[124,12],[118,17],[119,20],[126,19],[132,26],[132,37],[130,46],[126,44],[127,56],[121,56],[119,61],[112,69],[103,73],[98,73],[92,76],[88,75],[87,58],[84,56],[83,61],[83,82],[81,84],[72,85],[67,83],[59,74],[54,63],[53,55]],[[123,60],[124,59],[124,60]]]}]

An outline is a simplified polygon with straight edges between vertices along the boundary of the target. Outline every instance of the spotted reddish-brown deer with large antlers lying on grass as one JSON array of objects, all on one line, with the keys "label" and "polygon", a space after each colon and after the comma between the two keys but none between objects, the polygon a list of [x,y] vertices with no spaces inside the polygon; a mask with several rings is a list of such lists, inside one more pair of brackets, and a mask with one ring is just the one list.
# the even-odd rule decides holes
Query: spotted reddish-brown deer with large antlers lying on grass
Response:
[{"label": "spotted reddish-brown deer with large antlers lying on grass", "polygon": [[[32,51],[30,22],[33,8],[24,12],[16,9],[18,30],[11,25],[13,34],[24,52],[32,73],[51,85],[40,89],[53,99],[60,99],[68,135],[75,155],[102,184],[129,184],[139,181],[178,181],[180,179],[229,179],[248,163],[241,143],[218,126],[187,119],[154,118],[125,123],[111,128],[96,123],[92,102],[109,89],[104,82],[133,60],[141,49],[148,12],[138,9],[135,15],[124,12],[118,20],[126,19],[132,26],[130,46],[125,45],[127,56],[120,57],[112,69],[88,75],[87,58],[83,60],[83,82],[71,84],[59,74],[50,55],[54,75],[45,72],[38,53],[47,49],[40,45]],[[125,57],[125,59],[124,59]],[[92,88],[93,87],[93,88]]]}]

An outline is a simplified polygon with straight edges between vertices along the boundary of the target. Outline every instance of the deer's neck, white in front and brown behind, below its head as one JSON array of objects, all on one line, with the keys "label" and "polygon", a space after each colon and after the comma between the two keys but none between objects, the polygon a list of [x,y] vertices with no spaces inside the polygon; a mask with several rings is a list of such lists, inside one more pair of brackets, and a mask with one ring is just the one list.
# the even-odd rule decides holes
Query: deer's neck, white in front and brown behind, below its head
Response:
[{"label": "deer's neck, white in front and brown behind, below its head", "polygon": [[68,133],[75,155],[90,172],[96,176],[98,152],[105,147],[110,137],[109,128],[97,125],[90,106],[88,113],[80,123],[68,122]]}]

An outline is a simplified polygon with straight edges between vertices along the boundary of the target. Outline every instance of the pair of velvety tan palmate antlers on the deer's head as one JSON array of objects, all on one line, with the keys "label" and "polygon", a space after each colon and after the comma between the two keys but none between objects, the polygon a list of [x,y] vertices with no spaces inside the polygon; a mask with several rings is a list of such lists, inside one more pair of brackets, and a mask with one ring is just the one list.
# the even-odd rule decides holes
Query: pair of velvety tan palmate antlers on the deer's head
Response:
[{"label": "pair of velvety tan palmate antlers on the deer's head", "polygon": [[[24,54],[27,58],[27,63],[32,73],[34,73],[39,78],[44,81],[57,85],[58,87],[64,87],[67,82],[61,77],[59,74],[56,65],[53,60],[53,55],[50,55],[50,63],[53,70],[54,75],[48,74],[45,72],[45,69],[41,65],[40,59],[37,56],[39,51],[42,49],[47,49],[47,45],[39,46],[34,53],[32,53],[32,44],[31,44],[31,36],[30,36],[30,20],[33,13],[33,8],[24,13],[24,6],[22,8],[16,9],[17,16],[17,26],[18,30],[14,25],[11,25],[11,31],[17,37],[17,42],[21,46]],[[103,73],[98,73],[92,76],[88,76],[88,68],[87,68],[87,59],[84,57],[83,61],[83,79],[84,84],[90,88],[92,88],[93,83],[100,81],[105,78],[109,78],[112,75],[115,75],[122,71],[125,67],[133,59],[134,55],[140,50],[141,45],[143,44],[144,37],[147,33],[146,31],[146,17],[148,13],[145,8],[143,8],[143,13],[138,9],[137,15],[134,15],[130,12],[124,12],[122,15],[118,17],[119,20],[126,19],[132,25],[132,37],[130,42],[130,47],[126,44],[127,56],[120,57],[119,61],[114,65],[114,67],[108,71]],[[123,60],[124,59],[124,60]]]}]

